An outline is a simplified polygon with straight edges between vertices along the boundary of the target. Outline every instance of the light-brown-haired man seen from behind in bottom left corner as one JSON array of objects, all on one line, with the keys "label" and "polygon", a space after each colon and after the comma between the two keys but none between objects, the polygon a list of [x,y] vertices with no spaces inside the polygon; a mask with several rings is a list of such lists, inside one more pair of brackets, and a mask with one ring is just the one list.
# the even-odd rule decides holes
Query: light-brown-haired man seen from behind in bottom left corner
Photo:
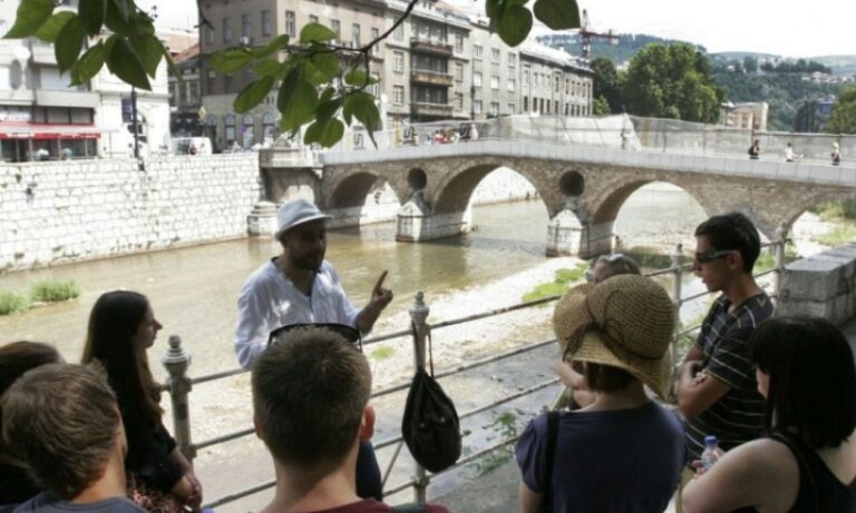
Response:
[{"label": "light-brown-haired man seen from behind in bottom left corner", "polygon": [[14,513],[145,512],[125,497],[127,442],[116,396],[81,365],[49,364],[2,398],[3,437],[45,492]]}]

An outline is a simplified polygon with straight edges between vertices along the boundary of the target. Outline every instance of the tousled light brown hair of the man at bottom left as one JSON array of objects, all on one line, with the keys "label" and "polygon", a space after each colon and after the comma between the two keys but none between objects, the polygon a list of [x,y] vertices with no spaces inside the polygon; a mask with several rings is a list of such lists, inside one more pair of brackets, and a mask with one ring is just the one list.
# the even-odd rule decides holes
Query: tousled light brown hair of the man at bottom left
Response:
[{"label": "tousled light brown hair of the man at bottom left", "polygon": [[2,408],[3,438],[40,487],[70,500],[103,476],[121,420],[95,369],[42,365],[12,384]]}]

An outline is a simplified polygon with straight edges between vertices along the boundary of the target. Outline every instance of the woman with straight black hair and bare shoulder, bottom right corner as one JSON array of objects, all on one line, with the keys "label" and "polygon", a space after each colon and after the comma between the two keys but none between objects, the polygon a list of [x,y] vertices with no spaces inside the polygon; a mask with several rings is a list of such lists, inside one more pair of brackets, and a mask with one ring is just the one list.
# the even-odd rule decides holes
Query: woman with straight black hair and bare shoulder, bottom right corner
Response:
[{"label": "woman with straight black hair and bare shoulder, bottom right corner", "polygon": [[729,451],[683,492],[684,513],[856,511],[856,366],[828,320],[779,317],[752,335],[767,436]]}]

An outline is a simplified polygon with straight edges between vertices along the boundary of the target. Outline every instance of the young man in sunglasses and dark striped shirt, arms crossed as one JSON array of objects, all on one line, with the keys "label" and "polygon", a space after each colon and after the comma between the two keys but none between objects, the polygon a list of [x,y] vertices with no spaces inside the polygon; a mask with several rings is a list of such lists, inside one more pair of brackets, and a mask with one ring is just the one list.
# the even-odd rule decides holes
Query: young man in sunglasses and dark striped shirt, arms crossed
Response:
[{"label": "young man in sunglasses and dark striped shirt, arms crossed", "polygon": [[719,292],[679,371],[678,406],[687,418],[689,460],[699,460],[704,436],[726,451],[761,435],[763,397],[750,363],[749,338],[774,315],[752,267],[760,238],[743,214],[713,216],[696,229],[693,272]]}]

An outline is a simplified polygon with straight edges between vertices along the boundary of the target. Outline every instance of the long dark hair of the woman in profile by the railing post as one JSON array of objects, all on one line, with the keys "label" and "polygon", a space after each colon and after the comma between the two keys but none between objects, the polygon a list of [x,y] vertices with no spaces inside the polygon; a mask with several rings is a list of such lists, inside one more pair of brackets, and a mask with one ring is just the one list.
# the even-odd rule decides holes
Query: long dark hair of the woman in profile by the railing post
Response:
[{"label": "long dark hair of the woman in profile by the railing post", "polygon": [[148,427],[160,424],[160,387],[152,376],[145,352],[135,351],[134,335],[143,324],[149,304],[132,290],[101,294],[89,314],[89,328],[81,362],[98,359],[120,401],[139,407]]}]

